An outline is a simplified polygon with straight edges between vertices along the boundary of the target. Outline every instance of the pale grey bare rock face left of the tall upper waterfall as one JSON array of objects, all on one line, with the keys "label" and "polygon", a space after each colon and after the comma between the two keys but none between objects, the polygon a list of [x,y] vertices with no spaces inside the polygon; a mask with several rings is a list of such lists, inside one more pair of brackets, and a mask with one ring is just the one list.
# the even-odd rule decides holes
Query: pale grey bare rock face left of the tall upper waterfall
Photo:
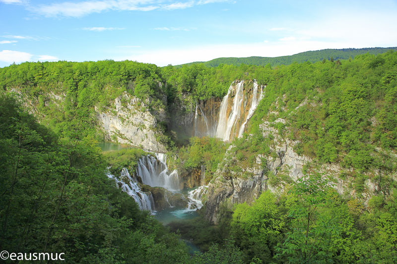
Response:
[{"label": "pale grey bare rock face left of the tall upper waterfall", "polygon": [[156,118],[139,98],[124,92],[116,98],[114,107],[106,110],[95,107],[95,111],[107,140],[147,151],[166,152],[164,144],[157,140],[164,135],[157,129]]}]

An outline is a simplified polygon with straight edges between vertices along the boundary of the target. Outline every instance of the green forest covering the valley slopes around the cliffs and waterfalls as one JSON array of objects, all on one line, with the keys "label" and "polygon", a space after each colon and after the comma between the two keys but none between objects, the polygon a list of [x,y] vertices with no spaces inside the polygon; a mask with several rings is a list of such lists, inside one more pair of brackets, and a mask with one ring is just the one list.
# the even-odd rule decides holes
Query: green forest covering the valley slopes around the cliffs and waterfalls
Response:
[{"label": "green forest covering the valley slopes around the cliffs and waterfalls", "polygon": [[[397,52],[306,60],[162,68],[59,61],[0,68],[1,249],[65,252],[68,263],[396,263]],[[297,142],[294,151],[312,162],[297,181],[269,173],[269,182],[283,188],[223,208],[217,226],[201,218],[171,224],[207,250],[191,257],[179,235],[139,211],[107,178],[107,166],[133,169],[144,152],[103,155],[95,147],[103,140],[95,107],[126,92],[147,103],[142,111],[169,115],[176,105],[222,98],[232,81],[252,79],[265,86],[265,96],[242,138],[193,137],[186,144],[162,124],[175,157],[170,166],[204,165],[209,182],[230,158],[226,150],[235,171],[252,166],[258,155],[277,157],[269,148],[274,136],[263,136],[265,122],[281,139]],[[61,103],[51,97],[62,97]],[[324,164],[341,168],[338,177],[351,192],[339,195],[330,175],[315,172]],[[378,189],[365,199],[368,180]]]}]

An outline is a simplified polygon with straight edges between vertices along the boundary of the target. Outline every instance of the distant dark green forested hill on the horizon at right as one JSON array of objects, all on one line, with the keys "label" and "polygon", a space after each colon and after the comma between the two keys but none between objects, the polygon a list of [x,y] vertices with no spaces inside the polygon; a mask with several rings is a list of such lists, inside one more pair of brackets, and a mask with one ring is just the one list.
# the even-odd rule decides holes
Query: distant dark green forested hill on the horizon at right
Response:
[{"label": "distant dark green forested hill on the horizon at right", "polygon": [[182,67],[183,65],[191,65],[195,63],[204,63],[205,66],[208,67],[216,67],[219,64],[232,64],[239,66],[241,63],[249,64],[249,65],[259,65],[264,66],[270,63],[271,66],[275,65],[288,65],[292,62],[305,62],[305,61],[321,61],[323,59],[348,59],[349,57],[354,57],[360,54],[370,53],[370,54],[379,54],[385,53],[389,50],[397,50],[397,47],[390,48],[363,48],[363,49],[326,49],[320,51],[310,51],[297,53],[289,56],[280,56],[280,57],[245,57],[245,58],[237,58],[237,57],[223,57],[223,58],[215,58],[209,61],[197,61],[186,64],[177,65],[177,67]]}]

